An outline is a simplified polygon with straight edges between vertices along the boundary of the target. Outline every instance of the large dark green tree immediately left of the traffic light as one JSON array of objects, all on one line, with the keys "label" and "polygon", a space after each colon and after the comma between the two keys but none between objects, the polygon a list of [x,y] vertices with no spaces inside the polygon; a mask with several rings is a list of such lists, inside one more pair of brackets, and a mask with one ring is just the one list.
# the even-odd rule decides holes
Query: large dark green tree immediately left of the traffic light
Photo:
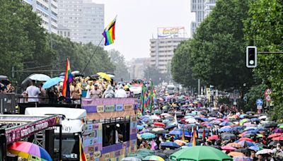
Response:
[{"label": "large dark green tree immediately left of the traffic light", "polygon": [[253,84],[252,71],[246,68],[243,20],[248,16],[248,1],[219,0],[190,40],[189,61],[194,78],[220,90]]}]

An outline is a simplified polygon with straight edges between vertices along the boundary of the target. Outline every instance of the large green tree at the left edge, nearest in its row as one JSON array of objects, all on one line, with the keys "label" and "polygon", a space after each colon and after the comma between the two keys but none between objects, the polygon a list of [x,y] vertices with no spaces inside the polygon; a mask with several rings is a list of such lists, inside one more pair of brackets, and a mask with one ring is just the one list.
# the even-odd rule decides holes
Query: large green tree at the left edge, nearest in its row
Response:
[{"label": "large green tree at the left edge, nearest in its row", "polygon": [[[11,78],[12,66],[22,70],[51,63],[54,52],[47,45],[40,17],[30,5],[20,0],[1,1],[0,21],[1,74]],[[51,67],[45,67],[45,70]],[[28,74],[17,73],[15,80],[19,81]]]}]

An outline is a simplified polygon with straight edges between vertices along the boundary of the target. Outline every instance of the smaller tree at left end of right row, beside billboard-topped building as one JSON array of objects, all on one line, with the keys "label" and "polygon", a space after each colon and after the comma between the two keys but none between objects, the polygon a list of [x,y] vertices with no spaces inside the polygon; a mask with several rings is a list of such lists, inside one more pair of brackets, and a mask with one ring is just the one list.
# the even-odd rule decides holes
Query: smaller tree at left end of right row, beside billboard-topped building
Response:
[{"label": "smaller tree at left end of right row, beside billboard-topped building", "polygon": [[187,87],[195,87],[197,81],[192,78],[192,64],[190,63],[190,42],[181,42],[174,51],[171,61],[171,73],[175,82]]}]

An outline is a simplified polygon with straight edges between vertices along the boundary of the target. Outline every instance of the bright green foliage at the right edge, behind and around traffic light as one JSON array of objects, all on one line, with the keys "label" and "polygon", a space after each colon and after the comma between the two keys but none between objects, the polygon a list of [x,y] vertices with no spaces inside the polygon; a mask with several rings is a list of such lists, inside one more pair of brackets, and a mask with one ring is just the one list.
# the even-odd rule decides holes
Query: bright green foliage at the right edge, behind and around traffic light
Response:
[{"label": "bright green foliage at the right edge, behind and around traffic light", "polygon": [[[257,0],[250,3],[249,18],[245,21],[246,40],[258,51],[283,51],[283,3],[281,0]],[[275,102],[273,116],[283,118],[283,54],[258,56],[255,78],[272,88]]]}]

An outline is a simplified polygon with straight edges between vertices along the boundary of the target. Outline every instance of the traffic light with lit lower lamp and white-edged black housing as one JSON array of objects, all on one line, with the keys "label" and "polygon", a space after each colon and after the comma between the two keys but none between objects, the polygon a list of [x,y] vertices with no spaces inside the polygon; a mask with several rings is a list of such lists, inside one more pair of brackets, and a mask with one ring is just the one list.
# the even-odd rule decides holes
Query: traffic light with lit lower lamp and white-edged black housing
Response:
[{"label": "traffic light with lit lower lamp and white-edged black housing", "polygon": [[258,65],[257,52],[257,47],[248,46],[246,48],[246,66],[248,68],[255,68]]}]

